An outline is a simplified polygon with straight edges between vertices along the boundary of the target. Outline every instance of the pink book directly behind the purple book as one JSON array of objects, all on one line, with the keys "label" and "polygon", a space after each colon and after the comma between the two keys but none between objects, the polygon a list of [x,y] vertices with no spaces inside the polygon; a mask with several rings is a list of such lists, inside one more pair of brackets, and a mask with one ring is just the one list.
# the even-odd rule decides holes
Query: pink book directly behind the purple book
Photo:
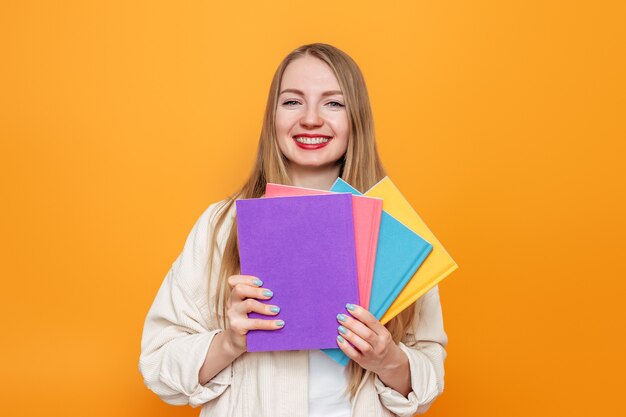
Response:
[{"label": "pink book directly behind the purple book", "polygon": [[[334,193],[273,183],[267,183],[265,186],[265,197],[319,194]],[[382,210],[383,200],[380,198],[352,196],[359,304],[366,309],[369,308],[372,292],[372,277],[374,276],[374,263],[376,261],[376,249],[378,248],[378,230],[380,228]]]}]

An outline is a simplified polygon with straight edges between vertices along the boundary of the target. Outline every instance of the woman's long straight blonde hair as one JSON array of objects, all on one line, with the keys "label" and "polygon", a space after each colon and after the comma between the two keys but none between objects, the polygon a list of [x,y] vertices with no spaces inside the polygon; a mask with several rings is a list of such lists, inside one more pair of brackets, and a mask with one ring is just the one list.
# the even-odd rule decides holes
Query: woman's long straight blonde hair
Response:
[{"label": "woman's long straight blonde hair", "polygon": [[[324,61],[333,70],[343,92],[346,110],[350,121],[348,148],[340,164],[339,176],[356,189],[365,191],[385,176],[376,149],[376,136],[367,87],[361,70],[345,52],[323,43],[303,45],[287,55],[278,66],[270,86],[263,127],[259,138],[259,147],[252,173],[244,186],[237,193],[224,200],[216,212],[215,228],[211,236],[210,253],[215,250],[217,235],[235,200],[240,198],[260,198],[265,193],[268,182],[291,185],[287,173],[287,164],[276,140],[275,116],[278,104],[280,83],[285,68],[294,60],[311,55]],[[209,257],[212,259],[212,257]],[[211,268],[212,266],[210,266]],[[227,279],[239,274],[239,249],[237,245],[237,222],[233,221],[216,283],[215,315],[221,317],[221,325],[226,328],[226,300],[230,296]],[[209,277],[211,272],[209,272]],[[211,286],[209,286],[211,288]],[[212,294],[209,294],[209,299]],[[407,332],[413,321],[412,308],[395,317],[386,324],[393,340],[397,343]],[[357,363],[350,361],[348,365],[348,391],[351,396],[356,393],[364,375],[364,370]]]}]

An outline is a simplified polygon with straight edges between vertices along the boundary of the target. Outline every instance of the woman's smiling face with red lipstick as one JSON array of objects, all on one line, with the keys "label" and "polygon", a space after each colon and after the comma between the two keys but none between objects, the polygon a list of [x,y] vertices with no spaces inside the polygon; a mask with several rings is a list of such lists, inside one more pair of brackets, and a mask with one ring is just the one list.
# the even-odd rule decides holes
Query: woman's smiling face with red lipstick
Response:
[{"label": "woman's smiling face with red lipstick", "polygon": [[289,170],[335,166],[350,123],[333,70],[313,56],[298,58],[285,68],[279,94],[276,137]]}]

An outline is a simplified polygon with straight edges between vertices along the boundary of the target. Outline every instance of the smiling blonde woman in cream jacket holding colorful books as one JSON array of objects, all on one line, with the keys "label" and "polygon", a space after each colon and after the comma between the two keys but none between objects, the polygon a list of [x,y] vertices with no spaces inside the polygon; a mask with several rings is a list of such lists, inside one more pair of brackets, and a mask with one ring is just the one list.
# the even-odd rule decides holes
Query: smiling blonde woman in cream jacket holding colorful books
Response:
[{"label": "smiling blonde woman in cream jacket holding colorful books", "polygon": [[[385,176],[361,71],[327,44],[304,45],[270,87],[252,174],[194,225],[144,325],[139,369],[170,404],[201,416],[412,416],[443,391],[447,336],[437,287],[383,326],[360,306],[338,312],[344,368],[320,351],[246,352],[280,306],[263,277],[239,274],[235,200],[267,182],[328,190],[337,177],[366,191]],[[311,294],[314,297],[314,294]],[[267,319],[250,319],[257,312]],[[348,343],[349,342],[349,343]]]}]

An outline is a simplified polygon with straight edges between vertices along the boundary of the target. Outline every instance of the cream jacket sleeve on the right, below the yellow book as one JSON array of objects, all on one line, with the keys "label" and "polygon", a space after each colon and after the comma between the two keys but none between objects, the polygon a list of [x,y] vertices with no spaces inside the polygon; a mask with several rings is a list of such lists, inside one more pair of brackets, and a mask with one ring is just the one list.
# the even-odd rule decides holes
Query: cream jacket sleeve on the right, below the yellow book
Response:
[{"label": "cream jacket sleeve on the right, below the yellow book", "polygon": [[399,343],[409,358],[412,391],[408,398],[385,386],[378,376],[374,378],[382,404],[400,417],[426,412],[444,387],[448,337],[443,329],[439,288],[435,286],[417,300],[415,309],[416,325]]}]

